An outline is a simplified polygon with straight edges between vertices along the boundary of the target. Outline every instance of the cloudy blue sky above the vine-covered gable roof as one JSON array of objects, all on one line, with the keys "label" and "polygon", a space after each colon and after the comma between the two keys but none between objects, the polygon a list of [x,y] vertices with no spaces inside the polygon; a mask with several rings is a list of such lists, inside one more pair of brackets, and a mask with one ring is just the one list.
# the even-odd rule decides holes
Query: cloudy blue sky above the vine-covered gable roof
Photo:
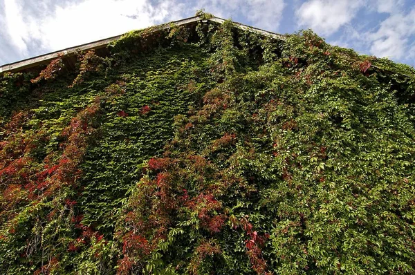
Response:
[{"label": "cloudy blue sky above the vine-covered gable roof", "polygon": [[281,34],[311,28],[330,44],[415,65],[415,0],[0,0],[0,65],[201,8]]}]

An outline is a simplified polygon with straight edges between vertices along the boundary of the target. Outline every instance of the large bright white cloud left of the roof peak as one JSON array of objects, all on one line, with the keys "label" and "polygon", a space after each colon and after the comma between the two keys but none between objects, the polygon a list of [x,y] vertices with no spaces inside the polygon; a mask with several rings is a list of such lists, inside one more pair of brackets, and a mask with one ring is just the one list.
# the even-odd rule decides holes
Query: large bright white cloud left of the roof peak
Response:
[{"label": "large bright white cloud left of the roof peak", "polygon": [[[84,0],[72,3],[3,0],[2,36],[17,49],[16,58],[88,43],[180,19],[183,4],[149,0]],[[36,5],[36,6],[34,6]],[[0,47],[4,46],[0,41]],[[1,55],[1,53],[0,53]],[[8,59],[0,57],[0,59]]]}]

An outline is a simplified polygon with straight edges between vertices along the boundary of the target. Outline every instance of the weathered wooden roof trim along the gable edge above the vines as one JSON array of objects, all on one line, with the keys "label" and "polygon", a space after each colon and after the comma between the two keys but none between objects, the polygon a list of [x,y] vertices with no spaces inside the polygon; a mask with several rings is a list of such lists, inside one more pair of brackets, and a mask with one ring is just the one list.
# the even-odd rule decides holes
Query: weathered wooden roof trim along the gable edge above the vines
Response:
[{"label": "weathered wooden roof trim along the gable edge above the vines", "polygon": [[[189,17],[186,19],[182,19],[182,20],[178,20],[178,21],[172,21],[169,23],[173,23],[176,26],[183,26],[183,25],[187,25],[189,23],[194,23],[196,21],[201,21],[201,20],[208,20],[208,21],[213,21],[216,23],[223,23],[225,21],[225,19],[221,19],[219,17],[210,17],[208,19],[203,19],[201,17]],[[162,28],[160,28],[161,30],[165,29],[165,28],[170,28],[169,23],[167,24],[162,24],[160,25]],[[237,24],[237,26],[239,26],[239,28],[243,29],[243,30],[249,30],[252,32],[259,32],[261,35],[265,35],[267,37],[273,37],[275,39],[284,39],[284,36],[282,35],[277,35],[274,32],[268,32],[266,30],[261,30],[259,28],[253,28],[250,26],[246,26],[243,25],[241,23],[237,23],[234,22],[235,24]],[[158,30],[160,30],[158,29]],[[157,30],[154,30],[157,31]],[[64,50],[57,50],[55,52],[52,53],[47,53],[45,55],[39,55],[37,57],[31,57],[28,59],[24,59],[21,61],[17,61],[17,62],[13,62],[10,64],[4,64],[3,66],[0,66],[0,73],[6,73],[6,72],[19,72],[20,70],[24,70],[26,68],[32,68],[35,66],[39,66],[41,64],[46,64],[49,61],[55,59],[56,57],[58,57],[58,55],[63,55],[64,57],[69,57],[69,56],[73,56],[77,53],[80,53],[84,50],[95,50],[98,48],[104,48],[106,47],[108,44],[110,44],[112,41],[116,41],[118,39],[120,39],[120,37],[122,37],[122,35],[116,35],[114,37],[109,37],[107,39],[101,39],[98,41],[93,41],[91,43],[88,44],[82,44],[79,46],[75,46],[75,47],[71,47],[71,48],[66,48]]]}]

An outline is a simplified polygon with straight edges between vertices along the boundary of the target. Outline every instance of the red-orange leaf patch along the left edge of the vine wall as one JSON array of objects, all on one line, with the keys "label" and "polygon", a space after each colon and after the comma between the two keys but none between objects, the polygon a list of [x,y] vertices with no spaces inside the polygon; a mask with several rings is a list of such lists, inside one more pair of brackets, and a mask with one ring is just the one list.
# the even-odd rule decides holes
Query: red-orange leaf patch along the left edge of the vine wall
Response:
[{"label": "red-orange leaf patch along the left edge of the vine wall", "polygon": [[[101,234],[91,227],[82,225],[82,216],[74,216],[77,202],[68,196],[59,198],[59,193],[78,188],[78,180],[82,175],[79,164],[84,158],[89,139],[95,133],[95,120],[100,114],[100,102],[100,97],[95,97],[92,104],[71,119],[60,135],[63,141],[59,144],[59,151],[49,153],[41,163],[30,157],[30,154],[37,149],[33,144],[44,139],[44,131],[42,128],[27,133],[22,130],[30,117],[27,113],[15,114],[3,128],[6,130],[3,131],[6,138],[2,140],[0,148],[0,155],[4,157],[0,160],[0,182],[3,187],[0,196],[0,218],[10,221],[9,234],[15,235],[19,230],[19,223],[13,220],[19,214],[12,211],[13,208],[25,207],[28,202],[30,206],[35,207],[42,201],[53,200],[56,207],[61,205],[62,208],[44,209],[44,222],[70,220],[73,229],[77,228],[80,232],[78,238],[67,243],[68,252],[76,253],[80,249],[87,249],[86,245],[102,242]],[[42,127],[42,124],[40,126]],[[16,142],[19,142],[19,146],[13,145]],[[10,150],[11,148],[13,150]],[[30,241],[30,238],[33,238],[30,235],[28,238],[28,249],[33,251],[36,248],[31,246],[37,243]],[[100,256],[99,251],[95,254]],[[37,272],[48,274],[54,269],[55,265],[52,262]]]}]

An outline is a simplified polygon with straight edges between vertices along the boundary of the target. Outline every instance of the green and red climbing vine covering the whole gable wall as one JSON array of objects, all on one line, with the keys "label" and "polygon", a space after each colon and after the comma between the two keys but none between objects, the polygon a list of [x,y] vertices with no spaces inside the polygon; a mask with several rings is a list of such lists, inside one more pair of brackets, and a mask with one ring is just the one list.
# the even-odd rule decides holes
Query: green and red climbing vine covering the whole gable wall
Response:
[{"label": "green and red climbing vine covering the whole gable wall", "polygon": [[413,274],[412,68],[311,31],[124,35],[0,78],[5,274]]}]

